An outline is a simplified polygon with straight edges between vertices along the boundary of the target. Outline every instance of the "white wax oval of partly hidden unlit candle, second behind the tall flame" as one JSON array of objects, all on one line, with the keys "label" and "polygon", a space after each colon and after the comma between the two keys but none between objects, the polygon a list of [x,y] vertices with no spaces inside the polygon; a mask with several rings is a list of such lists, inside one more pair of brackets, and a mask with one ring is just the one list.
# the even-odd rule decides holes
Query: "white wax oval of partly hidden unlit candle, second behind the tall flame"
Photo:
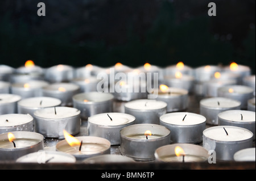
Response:
[{"label": "white wax oval of partly hidden unlit candle, second behind the tall flame", "polygon": [[44,108],[44,107],[53,107],[59,106],[61,100],[51,97],[34,97],[22,99],[18,102],[19,106],[30,107],[30,108]]}]

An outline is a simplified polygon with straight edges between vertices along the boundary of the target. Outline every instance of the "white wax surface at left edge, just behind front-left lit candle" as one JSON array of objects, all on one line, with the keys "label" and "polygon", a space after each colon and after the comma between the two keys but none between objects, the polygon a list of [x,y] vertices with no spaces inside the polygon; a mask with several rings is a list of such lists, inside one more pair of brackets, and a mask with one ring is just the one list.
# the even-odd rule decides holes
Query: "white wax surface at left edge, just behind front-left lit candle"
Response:
[{"label": "white wax surface at left edge, just behind front-left lit candle", "polygon": [[[7,120],[7,121],[6,121]],[[13,127],[16,125],[26,124],[33,120],[30,115],[13,113],[7,115],[0,115],[0,127]]]}]

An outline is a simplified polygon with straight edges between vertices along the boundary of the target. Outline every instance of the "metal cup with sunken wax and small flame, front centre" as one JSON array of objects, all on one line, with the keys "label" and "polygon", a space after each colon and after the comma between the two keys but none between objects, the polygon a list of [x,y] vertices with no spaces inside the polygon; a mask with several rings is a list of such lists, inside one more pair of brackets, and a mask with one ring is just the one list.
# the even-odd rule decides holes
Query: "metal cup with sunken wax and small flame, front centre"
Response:
[{"label": "metal cup with sunken wax and small flame, front centre", "polygon": [[[149,130],[151,136],[144,133]],[[134,124],[120,131],[122,155],[138,161],[151,161],[155,159],[154,152],[163,145],[170,144],[170,130],[157,124]]]}]

